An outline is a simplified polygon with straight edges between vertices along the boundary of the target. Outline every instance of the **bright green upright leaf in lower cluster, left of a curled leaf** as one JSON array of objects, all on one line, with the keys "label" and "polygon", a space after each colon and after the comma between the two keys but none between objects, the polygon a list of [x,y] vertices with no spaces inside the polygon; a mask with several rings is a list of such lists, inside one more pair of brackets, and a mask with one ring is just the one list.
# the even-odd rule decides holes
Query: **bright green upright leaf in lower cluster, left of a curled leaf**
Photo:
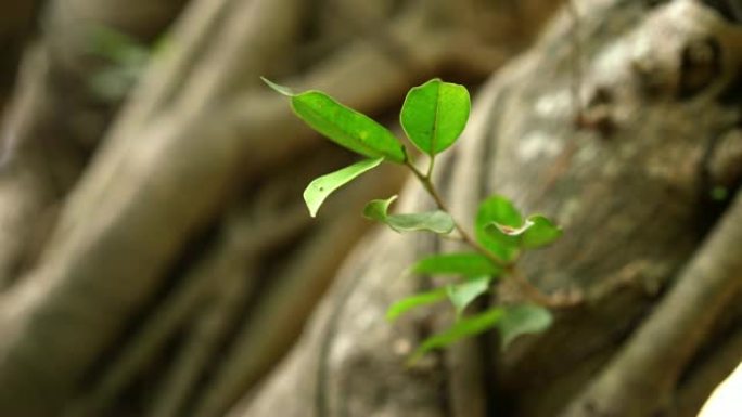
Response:
[{"label": "bright green upright leaf in lower cluster, left of a curled leaf", "polygon": [[503,262],[512,262],[520,251],[520,239],[497,227],[492,231],[492,223],[500,227],[519,229],[523,218],[508,198],[495,195],[479,204],[474,221],[476,240]]}]

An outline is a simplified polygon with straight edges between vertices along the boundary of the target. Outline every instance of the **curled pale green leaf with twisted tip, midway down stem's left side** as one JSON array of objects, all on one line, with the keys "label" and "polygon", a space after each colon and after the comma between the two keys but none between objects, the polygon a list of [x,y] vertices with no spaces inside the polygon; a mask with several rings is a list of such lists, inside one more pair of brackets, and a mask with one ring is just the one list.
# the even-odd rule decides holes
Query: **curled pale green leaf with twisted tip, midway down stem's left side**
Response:
[{"label": "curled pale green leaf with twisted tip, midway down stem's left side", "polygon": [[453,219],[447,212],[435,210],[421,213],[388,214],[389,205],[397,196],[374,199],[363,208],[363,216],[387,224],[397,232],[428,231],[448,234],[453,231]]}]

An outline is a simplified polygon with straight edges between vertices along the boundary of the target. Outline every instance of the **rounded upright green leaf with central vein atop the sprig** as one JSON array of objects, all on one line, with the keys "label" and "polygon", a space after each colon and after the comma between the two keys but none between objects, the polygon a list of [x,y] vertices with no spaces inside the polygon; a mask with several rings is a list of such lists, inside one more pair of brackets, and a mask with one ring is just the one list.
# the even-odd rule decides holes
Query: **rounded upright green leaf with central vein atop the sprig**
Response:
[{"label": "rounded upright green leaf with central vein atop the sprig", "polygon": [[470,109],[466,88],[433,79],[407,93],[400,121],[410,141],[433,156],[461,135]]}]

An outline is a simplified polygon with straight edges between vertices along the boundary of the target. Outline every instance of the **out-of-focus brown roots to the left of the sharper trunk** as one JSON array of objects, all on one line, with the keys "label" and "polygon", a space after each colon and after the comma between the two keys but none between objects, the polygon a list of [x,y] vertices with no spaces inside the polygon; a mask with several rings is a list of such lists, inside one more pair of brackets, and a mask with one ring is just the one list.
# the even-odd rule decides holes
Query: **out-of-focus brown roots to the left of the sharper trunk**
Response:
[{"label": "out-of-focus brown roots to the left of the sharper trunk", "polygon": [[[476,109],[499,100],[495,90],[508,81],[483,86],[515,65],[502,70],[524,76],[506,80],[553,77],[577,102],[567,94],[538,107],[535,95],[512,93],[522,107],[503,114],[556,106],[566,112],[564,129],[621,130],[601,113],[615,97],[588,92],[594,90],[589,68],[605,44],[628,36],[624,27],[673,2],[575,3],[0,0],[0,416],[479,416],[446,414],[440,404],[418,414],[353,407],[312,414],[300,393],[292,401],[304,404],[302,413],[250,408],[253,399],[271,395],[256,389],[268,375],[280,383],[276,375],[287,370],[276,370],[278,364],[351,249],[372,245],[371,224],[360,216],[366,201],[399,193],[407,179],[384,167],[311,219],[302,200],[306,184],[355,157],[307,129],[259,77],[325,91],[399,131],[397,113],[411,87],[432,77],[462,83]],[[739,53],[729,5],[737,3],[693,3],[703,12],[688,21],[713,22],[724,36],[715,48]],[[602,43],[593,45],[593,38]],[[540,77],[536,68],[519,69],[525,51],[555,64]],[[679,67],[693,67],[683,54]],[[735,65],[694,67],[693,81],[682,82],[701,79],[695,93],[706,87],[704,77],[721,78],[704,75],[708,68],[735,71]],[[724,112],[739,107],[738,95],[726,96]],[[591,112],[581,113],[583,102]],[[490,117],[475,110],[472,123],[486,129]],[[698,127],[704,134],[716,128]],[[459,155],[449,165],[466,160]],[[733,195],[735,181],[717,191]],[[408,188],[404,199],[418,198]],[[649,311],[642,309],[636,323]],[[719,331],[739,335],[740,323],[727,321]],[[740,362],[739,339],[718,342],[727,360],[704,374],[693,395],[705,399]],[[704,344],[705,352],[715,346]],[[739,406],[742,391],[727,387]],[[678,416],[695,415],[701,400],[688,403]],[[512,409],[553,415],[546,406]],[[703,417],[724,415],[715,413]]]}]

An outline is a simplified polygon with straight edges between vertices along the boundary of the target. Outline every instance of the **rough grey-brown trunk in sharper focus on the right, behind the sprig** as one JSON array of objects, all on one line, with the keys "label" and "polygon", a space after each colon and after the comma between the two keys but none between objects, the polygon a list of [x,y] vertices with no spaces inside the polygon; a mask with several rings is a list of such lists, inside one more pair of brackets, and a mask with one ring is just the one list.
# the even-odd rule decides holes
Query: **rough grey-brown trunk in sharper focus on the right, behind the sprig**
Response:
[{"label": "rough grey-brown trunk in sharper focus on the right, behind the sprig", "polygon": [[[717,223],[724,204],[709,197],[715,185],[733,188],[739,180],[728,169],[739,164],[739,152],[725,152],[734,160],[727,169],[713,166],[717,147],[739,140],[742,30],[692,1],[591,1],[578,10],[581,104],[571,95],[576,57],[564,15],[482,90],[475,126],[442,181],[464,219],[494,192],[524,212],[558,219],[564,238],[527,257],[523,268],[545,291],[578,287],[588,302],[506,352],[485,338],[406,368],[409,347],[445,318],[417,316],[391,326],[384,311],[424,285],[396,277],[421,248],[435,245],[379,234],[348,260],[303,341],[235,416],[698,411],[698,402],[683,403],[675,393],[683,376],[701,372],[692,356],[698,364],[714,355],[702,349],[703,335],[729,337],[732,357],[742,354],[727,335],[740,326],[730,310],[740,300],[739,268],[731,261],[739,259],[731,247],[739,208],[731,206]],[[413,185],[406,197],[406,209],[425,205]],[[713,237],[704,243],[709,229]],[[692,308],[680,301],[689,299]],[[722,315],[726,325],[713,326]],[[733,362],[716,366],[724,374]],[[466,380],[462,373],[483,368],[465,374],[470,383],[482,377],[473,389],[457,386]]]}]

